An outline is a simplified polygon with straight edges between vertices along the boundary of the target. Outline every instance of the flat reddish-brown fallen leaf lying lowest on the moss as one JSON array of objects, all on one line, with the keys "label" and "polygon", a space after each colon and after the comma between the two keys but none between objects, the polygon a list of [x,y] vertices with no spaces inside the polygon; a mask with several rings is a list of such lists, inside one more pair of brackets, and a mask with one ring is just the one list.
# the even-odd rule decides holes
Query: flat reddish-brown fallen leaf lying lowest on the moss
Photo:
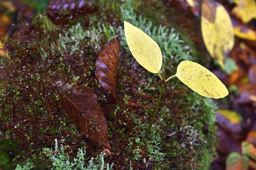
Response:
[{"label": "flat reddish-brown fallen leaf lying lowest on the moss", "polygon": [[107,122],[98,103],[98,98],[89,88],[81,85],[55,84],[61,97],[61,108],[81,132],[90,139],[110,147],[107,137]]}]

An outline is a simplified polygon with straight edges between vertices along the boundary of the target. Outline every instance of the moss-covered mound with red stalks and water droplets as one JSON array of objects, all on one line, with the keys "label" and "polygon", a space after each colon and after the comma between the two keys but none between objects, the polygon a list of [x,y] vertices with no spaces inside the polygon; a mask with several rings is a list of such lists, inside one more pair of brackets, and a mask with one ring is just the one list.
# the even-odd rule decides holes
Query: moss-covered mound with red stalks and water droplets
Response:
[{"label": "moss-covered mound with red stalks and water droplets", "polygon": [[[154,11],[152,22],[152,13],[136,15],[134,11],[138,11],[143,2],[134,6],[134,10],[131,8],[134,1],[98,3],[104,5],[91,15],[89,23],[79,23],[80,19],[72,21],[72,25],[55,26],[42,14],[31,25],[20,26],[11,35],[10,58],[1,58],[0,135],[4,140],[16,142],[15,145],[1,144],[5,147],[0,160],[6,164],[0,166],[12,169],[28,159],[34,169],[49,169],[53,161],[41,152],[45,147],[54,146],[54,139],[57,139],[65,148],[62,148],[61,161],[73,160],[83,147],[87,151],[83,162],[105,152],[105,161],[113,163],[113,168],[118,170],[208,169],[215,155],[215,104],[195,94],[178,79],[172,79],[160,102],[161,117],[148,134],[161,82],[157,74],[147,72],[131,56],[121,23],[123,20],[133,23],[160,45],[168,76],[175,74],[180,61],[193,60],[190,52],[194,48],[181,40],[174,29],[159,25],[156,18],[162,11]],[[111,13],[114,17],[110,20]],[[18,33],[23,29],[31,31]],[[81,136],[79,129],[63,114],[58,92],[51,83],[61,80],[96,91],[99,86],[94,74],[97,55],[102,45],[116,36],[121,36],[122,40],[117,98],[125,109],[116,104],[108,105],[106,96],[99,96],[112,147],[106,151]],[[48,153],[55,154],[51,152],[54,151]],[[8,167],[10,162],[12,165]],[[58,163],[54,165],[56,169],[63,165],[63,162]]]}]

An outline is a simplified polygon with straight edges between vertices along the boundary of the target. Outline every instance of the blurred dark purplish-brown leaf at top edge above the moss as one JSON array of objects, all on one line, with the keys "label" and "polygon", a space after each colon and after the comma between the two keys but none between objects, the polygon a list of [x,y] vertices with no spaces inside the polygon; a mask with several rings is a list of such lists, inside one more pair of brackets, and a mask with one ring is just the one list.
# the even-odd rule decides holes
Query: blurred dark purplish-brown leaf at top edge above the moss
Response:
[{"label": "blurred dark purplish-brown leaf at top edge above the moss", "polygon": [[47,15],[56,25],[65,25],[68,21],[97,10],[90,0],[52,0],[49,2]]}]

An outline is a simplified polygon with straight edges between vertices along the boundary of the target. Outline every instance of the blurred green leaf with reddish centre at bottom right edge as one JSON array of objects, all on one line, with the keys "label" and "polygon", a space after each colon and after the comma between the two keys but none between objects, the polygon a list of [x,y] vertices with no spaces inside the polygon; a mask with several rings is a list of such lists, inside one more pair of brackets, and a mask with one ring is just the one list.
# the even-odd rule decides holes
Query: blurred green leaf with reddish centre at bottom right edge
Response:
[{"label": "blurred green leaf with reddish centre at bottom right edge", "polygon": [[232,152],[226,159],[226,170],[247,170],[249,159],[247,156]]}]

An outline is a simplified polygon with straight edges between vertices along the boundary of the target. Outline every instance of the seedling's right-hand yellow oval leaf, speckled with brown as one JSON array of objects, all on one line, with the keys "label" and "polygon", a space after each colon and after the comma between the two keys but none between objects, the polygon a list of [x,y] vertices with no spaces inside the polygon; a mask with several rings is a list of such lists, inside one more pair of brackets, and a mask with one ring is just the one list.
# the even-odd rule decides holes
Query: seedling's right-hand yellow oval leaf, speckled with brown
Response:
[{"label": "seedling's right-hand yellow oval leaf, speckled with brown", "polygon": [[219,99],[229,94],[218,77],[196,62],[180,62],[175,76],[201,96]]}]

